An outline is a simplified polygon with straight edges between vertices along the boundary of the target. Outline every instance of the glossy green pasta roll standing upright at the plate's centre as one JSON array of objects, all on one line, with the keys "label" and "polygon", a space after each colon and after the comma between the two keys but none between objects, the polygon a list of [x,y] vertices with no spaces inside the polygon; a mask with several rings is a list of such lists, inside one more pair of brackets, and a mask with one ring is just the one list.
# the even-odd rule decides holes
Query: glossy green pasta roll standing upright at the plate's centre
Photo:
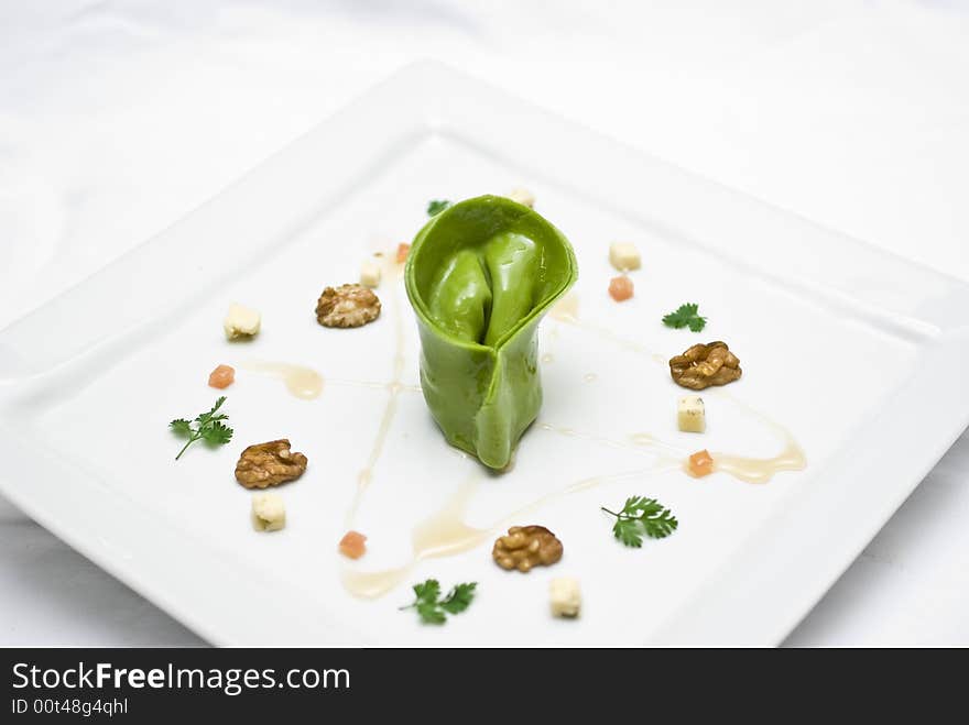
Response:
[{"label": "glossy green pasta roll standing upright at the plate's centre", "polygon": [[498,196],[448,207],[411,245],[424,399],[448,442],[489,468],[511,462],[538,415],[538,323],[577,277],[562,232]]}]

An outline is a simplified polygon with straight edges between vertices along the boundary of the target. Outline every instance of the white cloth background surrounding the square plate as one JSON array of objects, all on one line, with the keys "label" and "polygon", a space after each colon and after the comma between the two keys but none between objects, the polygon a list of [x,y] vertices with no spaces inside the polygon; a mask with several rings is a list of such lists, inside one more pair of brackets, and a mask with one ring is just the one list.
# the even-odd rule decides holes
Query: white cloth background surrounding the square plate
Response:
[{"label": "white cloth background surrounding the square plate", "polygon": [[[423,57],[969,279],[969,2],[0,0],[0,327]],[[967,521],[963,435],[788,644],[969,645]],[[0,612],[199,642],[2,499]]]}]

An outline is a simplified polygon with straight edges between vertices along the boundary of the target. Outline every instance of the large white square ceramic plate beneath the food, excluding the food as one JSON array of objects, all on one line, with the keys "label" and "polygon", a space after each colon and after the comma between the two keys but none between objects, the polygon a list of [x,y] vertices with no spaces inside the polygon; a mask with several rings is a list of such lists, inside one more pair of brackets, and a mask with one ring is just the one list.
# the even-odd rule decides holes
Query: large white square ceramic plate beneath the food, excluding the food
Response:
[{"label": "large white square ceramic plate beneath the food, excluding the food", "polygon": [[[368,327],[324,329],[313,312],[325,285],[410,240],[429,199],[514,186],[571,240],[578,307],[543,322],[545,405],[514,468],[493,475],[429,419],[399,278]],[[606,295],[614,240],[643,254],[622,305]],[[224,340],[232,300],[262,311],[255,341]],[[709,317],[703,334],[660,323],[684,301]],[[775,644],[969,422],[966,309],[965,284],[420,64],[0,333],[0,484],[217,644]],[[712,339],[743,378],[705,394],[707,433],[681,433],[665,360]],[[252,361],[308,365],[323,394],[290,396]],[[218,363],[239,369],[226,391],[236,437],[175,462],[166,424],[208,409]],[[804,470],[751,484],[666,465],[701,448],[770,459],[785,446],[770,420]],[[309,469],[280,488],[287,528],[257,534],[232,469],[244,446],[280,437]],[[599,507],[636,494],[681,526],[625,549]],[[345,589],[347,572],[406,564],[414,526],[456,497],[484,531],[477,546],[416,562],[382,597]],[[554,530],[562,562],[496,567],[490,541],[510,523]],[[348,524],[369,536],[352,564],[336,553]],[[581,581],[578,620],[548,614],[549,578],[566,574]],[[428,576],[477,581],[477,601],[422,626],[398,607]]]}]

